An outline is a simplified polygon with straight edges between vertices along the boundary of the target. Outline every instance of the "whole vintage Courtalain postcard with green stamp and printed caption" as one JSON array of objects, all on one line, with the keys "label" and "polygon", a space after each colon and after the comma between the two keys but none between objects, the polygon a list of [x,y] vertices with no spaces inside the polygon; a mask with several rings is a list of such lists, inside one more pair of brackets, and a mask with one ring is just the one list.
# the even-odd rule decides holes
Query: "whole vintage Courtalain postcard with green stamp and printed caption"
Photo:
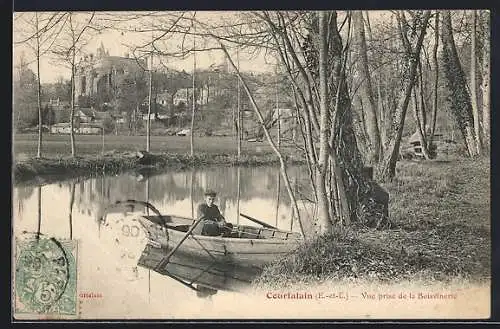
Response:
[{"label": "whole vintage Courtalain postcard with green stamp and printed caption", "polygon": [[488,10],[13,16],[14,320],[491,316]]}]

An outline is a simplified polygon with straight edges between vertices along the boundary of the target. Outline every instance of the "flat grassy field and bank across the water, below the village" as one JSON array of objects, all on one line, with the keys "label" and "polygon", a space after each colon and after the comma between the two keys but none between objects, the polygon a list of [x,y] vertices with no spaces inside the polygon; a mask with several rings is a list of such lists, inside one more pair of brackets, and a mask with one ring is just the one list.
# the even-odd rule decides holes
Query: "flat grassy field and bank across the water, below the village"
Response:
[{"label": "flat grassy field and bank across the water, below the village", "polygon": [[[42,155],[36,159],[36,134],[14,136],[14,182],[51,182],[75,176],[96,173],[118,174],[128,170],[151,171],[182,170],[188,167],[211,165],[275,165],[278,158],[267,143],[242,142],[242,156],[238,160],[237,143],[233,137],[195,137],[195,156],[189,153],[190,138],[179,136],[151,136],[153,161],[141,164],[136,152],[145,149],[145,136],[105,136],[104,155],[102,137],[76,136],[78,156],[70,156],[69,136],[44,135]],[[283,152],[290,163],[297,163],[289,148]]]}]

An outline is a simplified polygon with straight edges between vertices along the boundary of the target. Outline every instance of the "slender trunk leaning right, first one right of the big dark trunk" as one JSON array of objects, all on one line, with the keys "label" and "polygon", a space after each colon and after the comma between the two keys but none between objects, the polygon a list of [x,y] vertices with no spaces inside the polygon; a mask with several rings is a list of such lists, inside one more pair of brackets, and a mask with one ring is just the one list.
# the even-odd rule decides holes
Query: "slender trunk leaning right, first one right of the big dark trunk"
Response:
[{"label": "slender trunk leaning right, first one right of the big dark trunk", "polygon": [[415,84],[417,75],[418,62],[420,60],[420,50],[424,41],[427,22],[429,21],[430,11],[426,10],[423,18],[422,28],[418,37],[417,45],[414,51],[409,54],[410,59],[408,70],[405,74],[405,79],[401,84],[400,97],[396,113],[394,114],[393,127],[385,158],[380,168],[379,176],[382,180],[390,181],[396,175],[396,162],[399,156],[399,147],[401,144],[401,137],[403,135],[403,127],[405,123],[406,111],[408,110],[408,103],[411,97],[411,91]]}]

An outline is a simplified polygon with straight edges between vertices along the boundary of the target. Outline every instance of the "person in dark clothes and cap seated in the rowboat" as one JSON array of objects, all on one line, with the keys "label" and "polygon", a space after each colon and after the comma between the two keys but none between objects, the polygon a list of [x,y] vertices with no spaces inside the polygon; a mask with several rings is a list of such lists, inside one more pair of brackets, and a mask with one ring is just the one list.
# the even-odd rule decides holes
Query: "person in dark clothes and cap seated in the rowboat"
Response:
[{"label": "person in dark clothes and cap seated in the rowboat", "polygon": [[214,204],[217,193],[213,190],[205,191],[205,202],[198,205],[198,219],[201,222],[194,229],[194,234],[227,236],[231,233],[233,225],[227,223],[220,213],[219,207]]}]

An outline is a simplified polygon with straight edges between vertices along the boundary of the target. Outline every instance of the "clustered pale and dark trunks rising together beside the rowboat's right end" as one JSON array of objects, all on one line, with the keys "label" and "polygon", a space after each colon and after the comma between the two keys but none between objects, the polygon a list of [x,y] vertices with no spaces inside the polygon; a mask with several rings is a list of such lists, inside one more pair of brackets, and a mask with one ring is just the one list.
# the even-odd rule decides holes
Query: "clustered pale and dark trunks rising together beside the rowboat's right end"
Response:
[{"label": "clustered pale and dark trunks rising together beside the rowboat's right end", "polygon": [[[280,26],[277,27],[271,17],[264,14],[264,19],[273,29],[272,36],[276,44],[284,45],[278,48],[281,62],[287,68],[288,77],[293,83],[294,90],[297,91],[302,105],[299,110],[304,119],[304,130],[308,130],[304,133],[305,153],[308,164],[311,164],[311,171],[314,171],[310,173],[310,179],[317,205],[315,214],[318,213],[320,218],[326,219],[323,227],[327,228],[334,225],[334,220],[338,220],[337,223],[341,225],[348,225],[351,220],[356,221],[357,208],[363,203],[362,199],[365,196],[367,185],[361,177],[363,163],[353,130],[351,100],[345,82],[346,59],[344,57],[349,52],[343,51],[342,38],[337,30],[336,12],[328,14],[325,16],[329,16],[326,19],[329,23],[323,21],[320,31],[311,31],[310,38],[304,45],[307,47],[304,54],[307,67],[304,67],[297,58],[299,52],[291,44],[283,17],[280,17],[279,13],[277,14],[278,19],[281,19]],[[315,15],[315,18],[320,16],[321,13]],[[317,20],[315,24],[318,26]],[[324,31],[323,24],[327,24],[327,32]],[[327,41],[318,36],[320,33],[328,35]],[[278,37],[282,40],[278,40]],[[323,42],[327,44],[327,47]],[[286,49],[281,47],[286,47]],[[327,48],[327,54],[325,55],[323,52],[319,56],[321,57],[320,61],[318,54],[324,50],[323,48]],[[303,48],[301,47],[300,50]],[[296,67],[292,67],[290,60],[293,60]],[[325,64],[325,62],[327,63]],[[292,73],[297,71],[300,73],[299,77]],[[304,79],[304,81],[298,79]],[[325,93],[328,96],[326,99],[322,97]],[[325,100],[327,100],[326,104]],[[322,116],[325,107],[330,113],[327,116]],[[326,127],[328,129],[326,137],[329,140],[327,148],[321,149],[321,135],[323,138],[325,137],[324,119],[328,117],[331,117],[330,120],[327,120],[329,123]],[[314,128],[314,136],[312,128]],[[316,138],[318,136],[319,141]],[[319,151],[319,156],[316,148]],[[325,155],[322,151],[328,153],[326,166]],[[324,170],[324,174],[319,171],[320,169]],[[324,175],[325,179],[318,179],[318,176],[321,177],[320,175]],[[324,190],[324,192],[320,190]],[[321,213],[324,215],[321,216]],[[320,221],[316,221],[316,223],[319,223],[320,231],[323,230],[322,223]]]}]

